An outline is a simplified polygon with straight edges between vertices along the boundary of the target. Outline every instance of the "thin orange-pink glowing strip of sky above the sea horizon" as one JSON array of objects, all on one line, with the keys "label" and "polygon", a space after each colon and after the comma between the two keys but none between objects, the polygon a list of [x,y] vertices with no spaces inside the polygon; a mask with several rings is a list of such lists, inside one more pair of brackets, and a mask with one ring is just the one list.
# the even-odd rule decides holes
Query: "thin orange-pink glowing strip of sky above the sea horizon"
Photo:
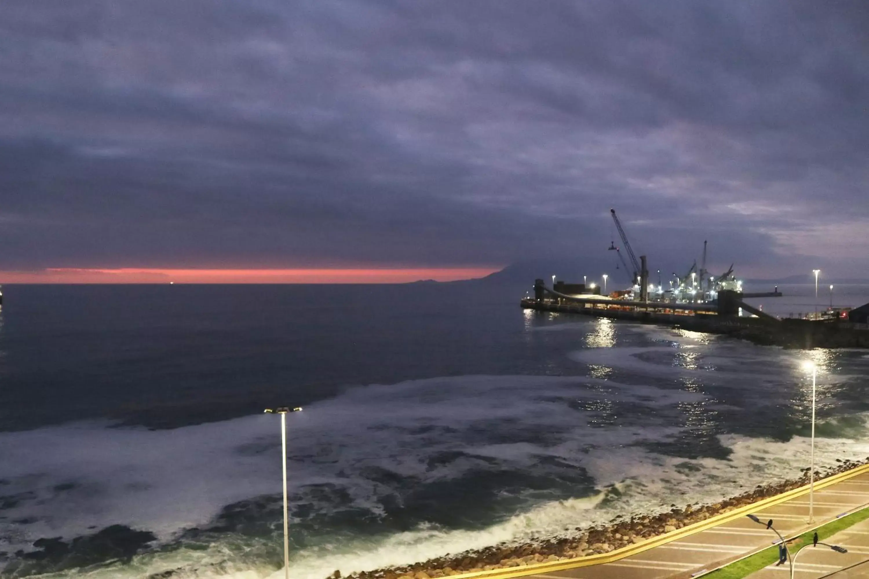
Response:
[{"label": "thin orange-pink glowing strip of sky above the sea horizon", "polygon": [[0,272],[4,284],[396,284],[482,278],[501,267],[353,269],[116,269],[53,267]]}]

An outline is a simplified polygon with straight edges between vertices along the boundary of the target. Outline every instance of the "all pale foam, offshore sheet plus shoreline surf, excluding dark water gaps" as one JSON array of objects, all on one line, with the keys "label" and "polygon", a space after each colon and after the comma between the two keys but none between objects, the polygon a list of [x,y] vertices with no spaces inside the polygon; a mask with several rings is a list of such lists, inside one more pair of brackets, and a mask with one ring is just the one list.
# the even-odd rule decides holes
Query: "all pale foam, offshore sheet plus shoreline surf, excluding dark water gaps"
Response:
[{"label": "all pale foam, offshore sheet plus shoreline surf, excluding dark water gaps", "polygon": [[[601,343],[605,341],[601,338]],[[660,377],[663,373],[673,379],[673,385],[679,385],[686,375],[697,374],[728,380],[734,389],[756,387],[756,380],[740,378],[746,374],[740,371],[745,363],[740,358],[741,346],[735,354],[731,349],[728,358],[718,342],[705,343],[693,336],[673,341],[674,346],[651,348],[601,347],[571,357],[639,377]],[[744,350],[746,359],[762,359],[756,351]],[[638,358],[640,353],[665,359],[672,355],[678,363],[678,357],[686,352],[706,359],[706,363],[719,356],[720,371]],[[775,352],[770,358],[776,364],[791,356],[770,352]],[[646,407],[644,419],[619,423],[614,409],[620,403]],[[521,543],[534,536],[554,536],[574,527],[605,523],[617,515],[660,510],[670,503],[717,501],[757,484],[796,477],[807,464],[806,438],[784,443],[722,435],[721,444],[731,450],[726,459],[689,460],[655,453],[650,450],[654,443],[678,440],[685,428],[679,421],[656,418],[657,411],[670,412],[672,406],[684,409],[686,416],[728,407],[710,404],[700,393],[677,388],[622,385],[602,378],[540,376],[461,376],[371,385],[310,405],[288,419],[290,492],[294,495],[307,485],[334,484],[348,493],[355,507],[378,513],[382,506],[378,497],[390,490],[388,484],[363,476],[366,468],[380,467],[425,485],[461,477],[486,464],[473,457],[520,471],[537,469],[541,457],[557,458],[594,477],[596,490],[588,497],[528,503],[514,516],[477,530],[420,523],[391,535],[342,536],[331,544],[295,552],[291,573],[297,579],[322,579],[335,569],[347,574],[494,543]],[[861,420],[865,424],[866,417]],[[499,421],[527,429],[527,439],[522,431],[520,436],[499,438],[510,430],[498,426]],[[71,538],[93,532],[90,527],[113,523],[152,530],[169,540],[180,530],[208,523],[227,503],[275,494],[280,490],[277,424],[277,418],[263,415],[172,431],[90,423],[0,433],[0,478],[10,483],[3,487],[3,494],[34,493],[32,497],[22,494],[20,503],[5,510],[4,515],[7,520],[36,519],[35,523],[0,529],[7,542],[0,549],[22,547],[39,536]],[[869,455],[869,446],[859,442],[866,434],[865,427],[857,424],[850,428],[853,439],[816,441],[820,466],[833,465],[837,457]],[[532,440],[535,432],[547,436]],[[461,451],[473,457],[444,464],[430,462],[444,451]],[[56,490],[57,485],[67,483],[76,486]],[[612,500],[616,495],[617,500]],[[136,556],[127,566],[86,574],[101,579],[187,568],[178,576],[281,576],[269,564],[245,555],[254,553],[257,542],[265,539],[230,544],[233,541],[242,539],[227,534],[225,541],[204,551],[149,553]]]}]

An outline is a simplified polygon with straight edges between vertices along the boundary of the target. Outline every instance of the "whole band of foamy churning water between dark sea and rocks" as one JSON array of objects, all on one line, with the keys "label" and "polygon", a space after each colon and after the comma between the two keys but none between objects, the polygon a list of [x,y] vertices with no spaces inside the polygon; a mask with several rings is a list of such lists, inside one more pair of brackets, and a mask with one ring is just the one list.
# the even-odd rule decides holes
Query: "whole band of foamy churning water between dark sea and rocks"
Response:
[{"label": "whole band of foamy churning water between dark sea and rocks", "polygon": [[[809,442],[793,416],[808,398],[794,368],[806,356],[821,357],[819,464],[869,456],[859,442],[867,415],[836,402],[866,370],[861,354],[786,352],[651,326],[620,326],[651,340],[625,346],[607,324],[577,332],[583,349],[570,358],[588,376],[369,385],[289,415],[293,576],[558,536],[797,477]],[[277,421],[0,433],[4,573],[278,573]],[[123,541],[135,544],[124,550]]]}]

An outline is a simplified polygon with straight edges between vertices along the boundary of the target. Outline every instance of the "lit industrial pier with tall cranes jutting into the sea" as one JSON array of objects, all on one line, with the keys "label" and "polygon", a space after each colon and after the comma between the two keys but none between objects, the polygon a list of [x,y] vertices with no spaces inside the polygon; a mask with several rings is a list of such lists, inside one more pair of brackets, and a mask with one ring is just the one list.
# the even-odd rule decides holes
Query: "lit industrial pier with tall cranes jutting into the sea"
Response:
[{"label": "lit industrial pier with tall cranes jutting into the sea", "polygon": [[846,311],[816,319],[779,319],[746,303],[745,299],[775,298],[782,293],[778,286],[771,292],[744,292],[742,282],[733,273],[733,265],[725,273],[710,275],[706,270],[706,241],[700,266],[695,261],[687,273],[673,273],[666,280],[656,270],[656,279],[651,280],[647,256],[637,258],[615,210],[611,209],[610,214],[625,251],[622,253],[614,242],[609,250],[616,253],[625,272],[633,270],[632,286],[607,293],[607,276],[603,288],[594,283],[568,283],[556,280],[555,276],[547,286],[540,278],[534,280],[534,296],[521,299],[523,308],[731,333],[768,345],[869,347],[869,326],[855,323]]}]

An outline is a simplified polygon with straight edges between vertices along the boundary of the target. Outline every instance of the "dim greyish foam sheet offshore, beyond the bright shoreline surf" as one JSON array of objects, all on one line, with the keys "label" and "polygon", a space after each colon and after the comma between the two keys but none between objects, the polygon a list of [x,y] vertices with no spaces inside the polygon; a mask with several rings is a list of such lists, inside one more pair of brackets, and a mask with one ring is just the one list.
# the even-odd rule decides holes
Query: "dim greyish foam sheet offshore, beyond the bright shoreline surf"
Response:
[{"label": "dim greyish foam sheet offshore, beyond the bright shoreline surf", "polygon": [[[530,465],[545,449],[490,442],[469,446],[461,432],[516,418],[527,427],[574,431],[584,424],[583,416],[564,400],[583,398],[610,404],[641,399],[654,406],[699,395],[620,387],[595,378],[525,376],[433,378],[355,388],[289,416],[291,491],[307,484],[346,486],[347,478],[337,477],[338,471],[365,466],[423,480],[461,474],[449,464],[433,470],[427,458],[436,451],[472,451]],[[88,423],[0,434],[0,477],[10,481],[4,494],[35,493],[5,514],[36,519],[3,535],[22,541],[71,538],[91,527],[120,523],[168,539],[177,530],[202,526],[222,505],[280,489],[277,424],[277,418],[262,415],[168,431]],[[459,434],[432,441],[408,433],[427,426]],[[605,444],[606,438],[600,429],[583,437],[587,444]],[[260,446],[268,451],[249,451]],[[348,490],[355,501],[375,509],[376,484],[352,482]],[[63,484],[74,486],[56,490]]]}]

